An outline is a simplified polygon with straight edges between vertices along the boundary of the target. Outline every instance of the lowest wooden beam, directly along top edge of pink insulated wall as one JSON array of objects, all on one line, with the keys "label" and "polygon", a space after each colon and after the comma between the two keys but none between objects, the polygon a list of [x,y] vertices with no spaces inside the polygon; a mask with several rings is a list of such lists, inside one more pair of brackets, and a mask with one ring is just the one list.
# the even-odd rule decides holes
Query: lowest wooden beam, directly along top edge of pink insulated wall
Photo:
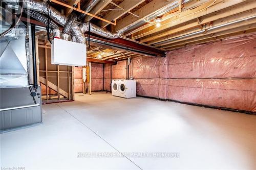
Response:
[{"label": "lowest wooden beam, directly along top edge of pink insulated wall", "polygon": [[202,40],[195,41],[195,42],[190,42],[190,43],[187,43],[187,44],[172,46],[172,47],[167,48],[167,50],[175,50],[175,49],[182,48],[182,47],[185,47],[185,46],[190,46],[190,45],[195,45],[195,44],[201,44],[201,43],[206,43],[206,42],[221,40],[221,39],[224,39],[224,38],[227,38],[227,37],[232,37],[232,36],[237,36],[237,35],[243,35],[243,34],[249,34],[249,33],[253,33],[253,32],[256,32],[256,29],[243,30],[243,31],[240,31],[240,32],[235,32],[235,33],[231,33],[231,34],[226,34],[226,35],[222,35],[222,36],[219,36],[219,37],[216,36],[216,37],[211,37],[211,38],[207,38],[207,39],[202,39]]}]

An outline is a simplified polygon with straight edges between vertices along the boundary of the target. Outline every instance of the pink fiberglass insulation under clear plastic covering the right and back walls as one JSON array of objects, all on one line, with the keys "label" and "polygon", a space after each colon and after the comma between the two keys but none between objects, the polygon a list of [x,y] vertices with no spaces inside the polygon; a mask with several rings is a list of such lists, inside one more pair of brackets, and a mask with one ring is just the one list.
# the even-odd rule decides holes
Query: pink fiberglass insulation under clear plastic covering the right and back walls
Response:
[{"label": "pink fiberglass insulation under clear plastic covering the right and back walls", "polygon": [[[125,66],[112,66],[112,79],[125,78]],[[256,34],[133,58],[131,76],[138,95],[256,112]]]}]

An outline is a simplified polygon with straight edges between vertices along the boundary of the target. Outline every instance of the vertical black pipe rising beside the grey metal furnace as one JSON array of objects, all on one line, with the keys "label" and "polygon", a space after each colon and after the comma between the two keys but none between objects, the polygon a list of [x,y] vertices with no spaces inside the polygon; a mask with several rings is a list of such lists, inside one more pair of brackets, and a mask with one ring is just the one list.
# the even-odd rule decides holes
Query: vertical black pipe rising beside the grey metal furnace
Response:
[{"label": "vertical black pipe rising beside the grey metal furnace", "polygon": [[33,88],[36,90],[38,88],[37,84],[37,69],[36,69],[36,54],[35,54],[35,25],[31,24],[31,39],[32,39],[32,58],[33,58]]}]

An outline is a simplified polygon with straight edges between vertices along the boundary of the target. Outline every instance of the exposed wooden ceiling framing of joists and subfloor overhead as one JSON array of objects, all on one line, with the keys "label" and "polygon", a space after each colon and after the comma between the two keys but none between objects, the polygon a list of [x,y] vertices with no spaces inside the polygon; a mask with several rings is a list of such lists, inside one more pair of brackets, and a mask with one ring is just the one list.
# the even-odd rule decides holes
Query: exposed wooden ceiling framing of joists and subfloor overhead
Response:
[{"label": "exposed wooden ceiling framing of joists and subfloor overhead", "polygon": [[[79,3],[84,4],[84,1],[74,0],[67,4],[78,8]],[[161,19],[160,27],[156,26],[155,19],[145,21],[145,17],[174,2],[178,4],[175,8],[157,16]],[[65,15],[73,11],[70,8],[62,8]],[[145,21],[144,25],[125,32],[123,38],[106,40],[116,44],[130,40],[129,43],[135,43],[137,48],[129,46],[129,43],[128,46],[134,47],[135,51],[92,43],[91,48],[88,48],[88,57],[108,61],[146,55],[136,52],[136,49],[140,49],[140,43],[143,43],[143,47],[145,44],[149,45],[146,50],[157,51],[156,56],[159,56],[160,49],[174,50],[256,31],[256,1],[250,0],[190,0],[185,4],[183,0],[104,0],[100,1],[90,14],[102,19],[87,15],[86,21],[91,20],[109,31],[118,31],[134,22]],[[116,21],[116,25],[109,27],[110,22],[104,20]]]}]

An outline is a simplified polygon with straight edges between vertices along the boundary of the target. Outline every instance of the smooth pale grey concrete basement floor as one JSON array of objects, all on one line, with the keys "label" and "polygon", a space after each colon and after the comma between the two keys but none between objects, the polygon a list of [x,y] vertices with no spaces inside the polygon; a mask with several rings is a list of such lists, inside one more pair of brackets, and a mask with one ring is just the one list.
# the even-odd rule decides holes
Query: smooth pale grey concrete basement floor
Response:
[{"label": "smooth pale grey concrete basement floor", "polygon": [[[1,134],[1,167],[256,169],[256,116],[110,93],[44,105],[42,124]],[[79,152],[179,157],[77,158]]]}]

